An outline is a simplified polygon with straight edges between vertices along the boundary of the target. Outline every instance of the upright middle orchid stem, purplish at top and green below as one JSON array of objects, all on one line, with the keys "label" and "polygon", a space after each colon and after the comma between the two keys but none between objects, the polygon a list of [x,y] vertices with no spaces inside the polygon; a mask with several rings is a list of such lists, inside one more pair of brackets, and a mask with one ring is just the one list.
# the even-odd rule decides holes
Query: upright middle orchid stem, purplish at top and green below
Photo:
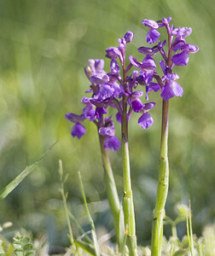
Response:
[{"label": "upright middle orchid stem, purplish at top and green below", "polygon": [[127,120],[127,97],[123,96],[122,114],[122,158],[123,158],[123,180],[124,180],[124,215],[125,235],[130,255],[137,255],[137,237],[133,196],[131,190],[131,172],[128,144],[128,120]]}]

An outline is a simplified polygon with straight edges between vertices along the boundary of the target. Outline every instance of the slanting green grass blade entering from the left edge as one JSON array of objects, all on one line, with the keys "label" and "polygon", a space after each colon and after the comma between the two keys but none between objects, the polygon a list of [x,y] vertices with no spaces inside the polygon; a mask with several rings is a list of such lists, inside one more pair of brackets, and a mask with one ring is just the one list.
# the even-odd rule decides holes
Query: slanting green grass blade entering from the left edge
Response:
[{"label": "slanting green grass blade entering from the left edge", "polygon": [[42,157],[37,160],[34,164],[31,166],[26,166],[26,169],[22,171],[17,177],[15,177],[12,182],[10,182],[5,188],[3,188],[0,191],[0,201],[2,201],[6,196],[9,195],[22,181],[23,179],[33,171],[33,169],[38,166],[38,164],[44,159],[45,155],[55,146],[57,142],[55,142],[53,145],[49,147],[49,149],[42,155]]}]

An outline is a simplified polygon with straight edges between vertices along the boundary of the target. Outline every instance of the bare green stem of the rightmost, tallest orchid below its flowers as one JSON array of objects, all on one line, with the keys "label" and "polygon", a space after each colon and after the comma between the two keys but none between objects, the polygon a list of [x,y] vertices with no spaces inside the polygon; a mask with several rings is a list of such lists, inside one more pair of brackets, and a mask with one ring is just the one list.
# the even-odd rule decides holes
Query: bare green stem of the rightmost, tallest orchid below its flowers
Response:
[{"label": "bare green stem of the rightmost, tallest orchid below its flowers", "polygon": [[168,162],[168,102],[163,101],[162,127],[160,145],[160,171],[154,220],[152,230],[152,256],[161,255],[161,243],[163,236],[163,218],[165,217],[165,204],[169,186],[169,162]]}]

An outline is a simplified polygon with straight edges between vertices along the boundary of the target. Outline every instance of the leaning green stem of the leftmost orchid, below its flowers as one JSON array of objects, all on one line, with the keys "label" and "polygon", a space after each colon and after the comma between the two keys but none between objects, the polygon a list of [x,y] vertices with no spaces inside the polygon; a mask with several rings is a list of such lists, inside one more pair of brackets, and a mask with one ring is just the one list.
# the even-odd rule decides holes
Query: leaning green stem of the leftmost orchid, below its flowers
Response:
[{"label": "leaning green stem of the leftmost orchid, below its flowers", "polygon": [[123,212],[119,203],[119,195],[113,177],[111,163],[108,157],[108,151],[104,148],[104,137],[99,135],[100,147],[102,152],[102,161],[104,166],[104,183],[108,195],[110,210],[113,215],[114,226],[116,230],[119,252],[123,251],[125,228]]}]

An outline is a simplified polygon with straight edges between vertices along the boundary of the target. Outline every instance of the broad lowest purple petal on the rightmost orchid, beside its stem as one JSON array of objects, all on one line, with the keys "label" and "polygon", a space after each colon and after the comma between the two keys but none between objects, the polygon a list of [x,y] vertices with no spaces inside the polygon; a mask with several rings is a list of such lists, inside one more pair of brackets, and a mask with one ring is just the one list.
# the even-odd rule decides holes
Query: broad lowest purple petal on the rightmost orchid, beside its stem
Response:
[{"label": "broad lowest purple petal on the rightmost orchid, beside its stem", "polygon": [[168,101],[174,96],[183,96],[183,88],[175,81],[167,81],[161,90],[160,96],[164,101]]}]

